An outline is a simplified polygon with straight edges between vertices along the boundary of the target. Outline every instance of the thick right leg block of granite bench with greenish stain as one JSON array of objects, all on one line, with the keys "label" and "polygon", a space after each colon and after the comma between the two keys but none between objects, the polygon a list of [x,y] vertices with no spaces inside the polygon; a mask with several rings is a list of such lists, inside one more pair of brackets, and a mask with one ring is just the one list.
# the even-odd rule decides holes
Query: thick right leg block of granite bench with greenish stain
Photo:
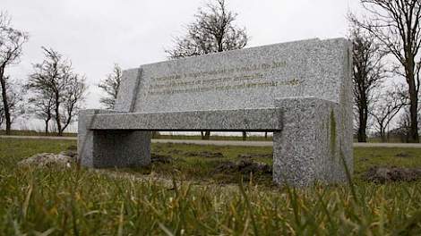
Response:
[{"label": "thick right leg block of granite bench with greenish stain", "polygon": [[[308,186],[347,181],[352,136],[339,105],[317,98],[279,100],[282,130],[273,133],[273,181]],[[346,127],[347,126],[347,127]],[[344,164],[345,161],[345,164]]]}]

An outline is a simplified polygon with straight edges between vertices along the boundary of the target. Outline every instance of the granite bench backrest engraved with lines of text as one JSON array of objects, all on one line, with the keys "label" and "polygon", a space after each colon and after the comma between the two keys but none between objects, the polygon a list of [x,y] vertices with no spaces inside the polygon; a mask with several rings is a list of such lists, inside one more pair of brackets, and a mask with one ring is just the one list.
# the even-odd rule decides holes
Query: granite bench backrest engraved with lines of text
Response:
[{"label": "granite bench backrest engraved with lines of text", "polygon": [[274,107],[282,97],[351,101],[345,38],[311,39],[150,63],[124,72],[115,109],[158,113]]}]

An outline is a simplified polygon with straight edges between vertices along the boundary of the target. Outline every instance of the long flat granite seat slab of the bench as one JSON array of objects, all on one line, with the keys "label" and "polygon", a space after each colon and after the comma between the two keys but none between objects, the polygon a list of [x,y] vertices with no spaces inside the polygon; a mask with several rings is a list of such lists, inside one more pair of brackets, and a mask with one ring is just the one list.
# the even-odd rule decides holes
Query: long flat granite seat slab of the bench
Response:
[{"label": "long flat granite seat slab of the bench", "polygon": [[[93,114],[90,130],[125,131],[280,131],[277,108],[171,113]],[[92,119],[93,118],[93,119]]]}]

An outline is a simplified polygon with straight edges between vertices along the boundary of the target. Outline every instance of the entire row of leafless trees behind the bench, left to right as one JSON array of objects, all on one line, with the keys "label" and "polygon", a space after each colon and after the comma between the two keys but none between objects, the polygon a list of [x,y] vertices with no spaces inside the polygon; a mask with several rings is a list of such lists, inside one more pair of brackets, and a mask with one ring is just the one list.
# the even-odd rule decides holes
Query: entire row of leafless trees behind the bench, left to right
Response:
[{"label": "entire row of leafless trees behind the bench, left to right", "polygon": [[[210,0],[211,1],[211,0]],[[353,81],[357,139],[366,141],[367,130],[374,129],[384,140],[391,123],[405,131],[409,142],[418,142],[419,86],[421,72],[421,1],[360,0],[365,15],[350,14],[353,44]],[[228,10],[224,0],[213,0],[194,15],[185,27],[185,36],[174,38],[169,59],[204,55],[243,48],[248,35],[237,27],[236,13]],[[0,14],[0,85],[2,89],[0,124],[10,133],[13,116],[21,110],[22,93],[5,74],[5,69],[19,63],[22,45],[28,34],[14,30],[10,18]],[[74,121],[86,90],[84,77],[73,72],[72,63],[51,48],[42,48],[45,60],[33,65],[25,85],[28,89],[28,111],[46,123],[54,121],[59,134]],[[393,59],[393,60],[392,60]],[[116,64],[112,73],[101,80],[99,88],[106,96],[100,102],[114,107],[122,76]],[[403,83],[394,82],[403,78]],[[393,81],[393,82],[391,82]],[[202,132],[209,139],[210,131]],[[243,137],[245,139],[246,133]]]}]

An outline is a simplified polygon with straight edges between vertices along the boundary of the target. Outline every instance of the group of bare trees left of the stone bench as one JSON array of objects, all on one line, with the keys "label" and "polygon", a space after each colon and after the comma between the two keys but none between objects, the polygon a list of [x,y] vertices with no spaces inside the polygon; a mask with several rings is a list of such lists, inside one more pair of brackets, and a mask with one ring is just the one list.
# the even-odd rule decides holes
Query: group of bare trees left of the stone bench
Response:
[{"label": "group of bare trees left of the stone bench", "polygon": [[20,86],[5,72],[8,66],[19,63],[28,39],[28,33],[13,29],[7,13],[0,13],[0,126],[5,122],[6,134],[11,134],[13,118],[26,112],[45,122],[46,133],[54,120],[61,136],[82,107],[85,78],[73,71],[70,60],[52,48],[42,47],[44,61],[33,64],[28,82]]}]

